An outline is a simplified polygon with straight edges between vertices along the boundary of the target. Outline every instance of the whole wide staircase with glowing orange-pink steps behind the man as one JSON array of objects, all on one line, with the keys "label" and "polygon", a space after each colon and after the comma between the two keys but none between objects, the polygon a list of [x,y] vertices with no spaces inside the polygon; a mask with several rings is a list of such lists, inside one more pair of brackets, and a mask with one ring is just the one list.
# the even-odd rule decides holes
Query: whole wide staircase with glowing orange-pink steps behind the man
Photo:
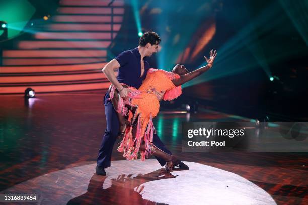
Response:
[{"label": "whole wide staircase with glowing orange-pink steps behind the man", "polygon": [[[107,48],[121,28],[124,1],[61,0],[33,40],[3,50],[0,94],[107,89]],[[37,28],[36,28],[37,29]]]}]

